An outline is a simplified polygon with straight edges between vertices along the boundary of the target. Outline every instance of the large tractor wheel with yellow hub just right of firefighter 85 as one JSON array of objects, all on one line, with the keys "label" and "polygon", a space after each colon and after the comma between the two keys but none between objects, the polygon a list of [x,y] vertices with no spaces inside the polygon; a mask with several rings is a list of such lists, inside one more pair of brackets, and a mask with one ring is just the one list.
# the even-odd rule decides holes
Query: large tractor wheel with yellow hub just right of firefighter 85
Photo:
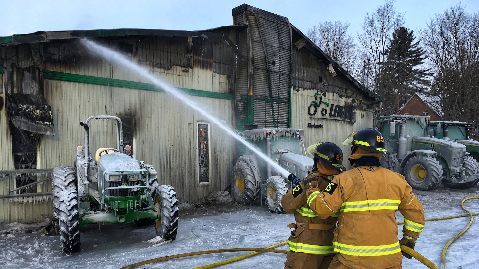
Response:
[{"label": "large tractor wheel with yellow hub just right of firefighter 85", "polygon": [[404,176],[412,189],[431,191],[441,184],[443,169],[433,157],[414,156],[406,163]]}]

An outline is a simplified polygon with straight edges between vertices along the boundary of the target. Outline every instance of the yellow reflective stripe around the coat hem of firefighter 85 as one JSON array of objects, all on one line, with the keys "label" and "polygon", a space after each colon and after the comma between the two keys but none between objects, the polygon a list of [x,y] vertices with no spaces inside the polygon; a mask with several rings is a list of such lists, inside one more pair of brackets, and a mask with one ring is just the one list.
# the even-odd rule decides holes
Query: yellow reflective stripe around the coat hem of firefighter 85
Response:
[{"label": "yellow reflective stripe around the coat hem of firefighter 85", "polygon": [[401,252],[399,242],[382,246],[354,246],[332,242],[334,251],[351,256],[384,256]]}]

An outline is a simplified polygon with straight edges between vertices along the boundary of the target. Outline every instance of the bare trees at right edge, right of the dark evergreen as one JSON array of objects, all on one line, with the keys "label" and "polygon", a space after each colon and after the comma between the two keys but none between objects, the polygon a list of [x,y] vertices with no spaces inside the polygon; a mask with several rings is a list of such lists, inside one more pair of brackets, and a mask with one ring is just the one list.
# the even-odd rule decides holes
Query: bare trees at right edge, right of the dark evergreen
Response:
[{"label": "bare trees at right edge, right of the dark evergreen", "polygon": [[435,73],[431,94],[439,97],[445,120],[478,122],[479,14],[461,4],[434,15],[421,29],[422,44]]}]

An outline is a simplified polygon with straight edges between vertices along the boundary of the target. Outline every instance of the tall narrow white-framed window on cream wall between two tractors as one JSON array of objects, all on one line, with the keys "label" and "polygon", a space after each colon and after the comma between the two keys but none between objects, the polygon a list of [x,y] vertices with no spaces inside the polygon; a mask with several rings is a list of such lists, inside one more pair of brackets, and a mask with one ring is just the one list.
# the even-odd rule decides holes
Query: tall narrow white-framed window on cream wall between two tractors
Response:
[{"label": "tall narrow white-framed window on cream wall between two tractors", "polygon": [[209,177],[209,123],[198,123],[198,181],[207,183]]}]

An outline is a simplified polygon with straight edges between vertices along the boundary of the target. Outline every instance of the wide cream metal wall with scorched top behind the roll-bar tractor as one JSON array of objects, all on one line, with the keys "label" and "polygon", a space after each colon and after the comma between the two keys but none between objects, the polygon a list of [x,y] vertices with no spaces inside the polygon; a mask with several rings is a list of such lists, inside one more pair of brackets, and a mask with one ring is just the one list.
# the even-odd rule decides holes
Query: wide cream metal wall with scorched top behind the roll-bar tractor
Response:
[{"label": "wide cream metal wall with scorched top behind the roll-bar tractor", "polygon": [[[237,43],[236,30],[222,33]],[[121,51],[134,63],[148,68],[155,77],[174,87],[192,89],[190,92],[199,90],[196,95],[213,97],[194,96],[195,93],[192,93],[193,95],[187,95],[187,101],[200,104],[220,120],[234,126],[234,100],[228,96],[231,97],[234,92],[236,55],[223,39],[208,38],[207,35],[104,38],[98,39],[97,42]],[[13,54],[22,46],[24,45],[11,45],[3,49]],[[28,45],[25,45],[23,50],[27,51],[27,48]],[[222,191],[227,187],[234,164],[236,144],[207,118],[166,92],[129,89],[128,85],[134,82],[152,82],[132,73],[127,67],[104,61],[91,54],[81,45],[79,39],[50,41],[43,43],[41,48],[42,70],[48,73],[47,79],[41,79],[41,89],[52,107],[56,136],[40,136],[37,168],[72,166],[76,147],[83,145],[84,141],[80,121],[91,115],[107,114],[134,118],[136,128],[131,146],[134,146],[135,157],[154,165],[158,171],[159,183],[175,187],[178,198],[187,202],[198,202],[209,192]],[[35,66],[32,53],[28,54],[27,51],[24,54],[27,55],[25,62],[30,59],[26,66]],[[1,63],[4,63],[3,59],[6,57],[0,59]],[[83,80],[72,82],[58,79],[55,76],[60,73],[55,72],[82,75]],[[2,77],[3,74],[0,74],[0,78]],[[94,81],[89,81],[92,77],[120,79],[128,85],[95,85]],[[14,76],[12,78],[17,79]],[[3,85],[6,83],[2,83]],[[9,85],[9,90],[19,89],[16,84]],[[2,100],[2,103],[5,101]],[[5,107],[1,108],[0,112],[0,142],[2,145],[10,145],[0,149],[0,169],[12,169],[11,134],[7,128],[10,126],[10,119]],[[201,185],[198,184],[197,163],[198,122],[211,123],[210,183]],[[99,147],[117,146],[116,123],[91,121],[90,130],[92,153]],[[8,187],[1,185],[0,181],[0,188],[4,191]],[[50,202],[41,203],[46,203],[46,208],[51,208]],[[6,214],[3,216],[5,220],[23,220],[22,217],[7,217]],[[33,213],[32,218],[41,221],[41,214],[48,213],[38,210]]]}]

